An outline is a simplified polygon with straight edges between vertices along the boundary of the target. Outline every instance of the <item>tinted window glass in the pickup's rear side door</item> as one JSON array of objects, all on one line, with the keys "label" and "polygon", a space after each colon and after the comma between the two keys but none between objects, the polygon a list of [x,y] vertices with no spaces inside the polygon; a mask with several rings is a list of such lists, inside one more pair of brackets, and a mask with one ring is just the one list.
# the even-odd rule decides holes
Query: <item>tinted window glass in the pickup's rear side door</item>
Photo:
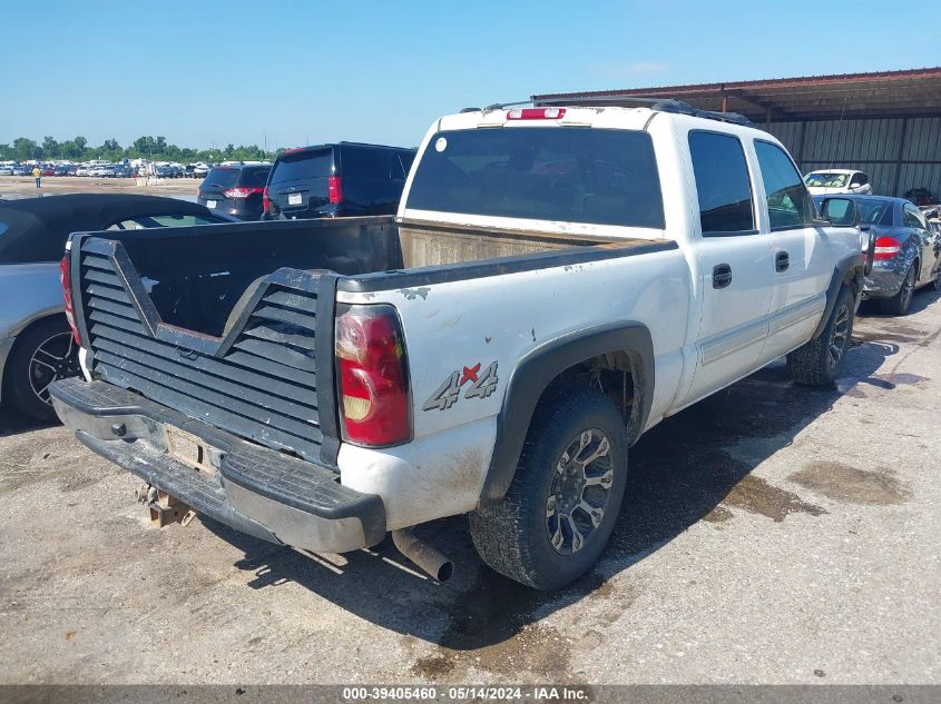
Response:
[{"label": "tinted window glass in the pickup's rear side door", "polygon": [[731,135],[689,132],[704,237],[755,231],[752,181],[742,142]]}]

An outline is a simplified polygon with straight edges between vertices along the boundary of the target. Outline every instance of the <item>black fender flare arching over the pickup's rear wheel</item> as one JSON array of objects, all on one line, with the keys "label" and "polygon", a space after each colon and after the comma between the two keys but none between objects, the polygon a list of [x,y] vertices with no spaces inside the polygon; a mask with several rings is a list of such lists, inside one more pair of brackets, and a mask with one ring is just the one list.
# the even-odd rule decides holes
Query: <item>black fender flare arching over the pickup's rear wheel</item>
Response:
[{"label": "black fender flare arching over the pickup's rear wheel", "polygon": [[647,424],[654,399],[654,343],[650,330],[640,323],[623,321],[570,333],[531,350],[513,369],[497,417],[497,440],[481,504],[499,500],[512,484],[522,454],[532,414],[542,393],[566,369],[607,353],[627,351],[639,359],[639,385],[635,377],[635,396],[640,397],[633,444]]}]

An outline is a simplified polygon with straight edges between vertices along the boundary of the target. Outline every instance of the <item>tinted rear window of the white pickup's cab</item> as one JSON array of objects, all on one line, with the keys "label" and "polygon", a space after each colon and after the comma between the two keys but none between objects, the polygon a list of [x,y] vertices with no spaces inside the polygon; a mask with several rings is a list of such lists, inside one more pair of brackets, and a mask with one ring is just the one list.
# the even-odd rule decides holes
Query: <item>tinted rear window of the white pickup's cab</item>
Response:
[{"label": "tinted rear window of the white pickup's cab", "polygon": [[408,207],[625,227],[664,227],[649,135],[580,127],[438,132]]}]

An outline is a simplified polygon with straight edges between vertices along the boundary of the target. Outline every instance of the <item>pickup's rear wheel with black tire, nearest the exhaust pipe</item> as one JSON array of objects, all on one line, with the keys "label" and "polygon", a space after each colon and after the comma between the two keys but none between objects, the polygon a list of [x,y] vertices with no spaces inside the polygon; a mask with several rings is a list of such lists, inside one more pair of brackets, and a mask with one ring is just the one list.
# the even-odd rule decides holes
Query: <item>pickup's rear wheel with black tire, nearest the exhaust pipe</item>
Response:
[{"label": "pickup's rear wheel with black tire, nearest the exhaust pipe", "polygon": [[[575,462],[582,450],[586,460],[598,456],[587,464]],[[626,482],[627,430],[617,407],[598,390],[550,389],[533,415],[507,495],[470,514],[474,547],[483,562],[511,579],[537,589],[561,588],[598,561],[617,522]],[[572,507],[581,499],[595,516]]]}]

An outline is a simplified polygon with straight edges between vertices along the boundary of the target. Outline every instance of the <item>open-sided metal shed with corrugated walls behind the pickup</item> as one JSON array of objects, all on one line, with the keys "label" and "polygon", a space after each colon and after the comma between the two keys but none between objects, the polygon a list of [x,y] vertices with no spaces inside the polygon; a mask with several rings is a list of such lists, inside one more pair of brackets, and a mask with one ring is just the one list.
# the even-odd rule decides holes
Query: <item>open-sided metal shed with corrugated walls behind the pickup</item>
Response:
[{"label": "open-sided metal shed with corrugated walls behind the pickup", "polygon": [[941,201],[941,67],[532,99],[575,105],[579,99],[610,98],[611,105],[633,105],[624,98],[638,96],[676,98],[704,110],[744,115],[777,137],[804,173],[857,168],[869,173],[874,194],[904,196],[924,188]]}]

